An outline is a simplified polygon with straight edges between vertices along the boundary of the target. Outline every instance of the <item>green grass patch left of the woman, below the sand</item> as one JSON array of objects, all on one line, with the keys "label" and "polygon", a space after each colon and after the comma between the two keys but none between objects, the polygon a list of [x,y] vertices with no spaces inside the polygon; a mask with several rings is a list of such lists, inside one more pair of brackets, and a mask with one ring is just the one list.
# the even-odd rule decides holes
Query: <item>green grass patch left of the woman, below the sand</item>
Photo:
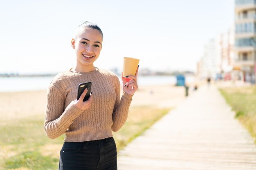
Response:
[{"label": "green grass patch left of the woman, below the sand", "polygon": [[[56,144],[61,147],[64,136],[56,140],[47,138],[43,123],[44,116],[37,115],[33,118],[5,121],[0,125],[0,145],[4,150],[0,154],[2,169],[58,169],[58,155],[50,154],[49,150],[45,153],[44,146]],[[60,148],[54,149],[59,153]]]}]

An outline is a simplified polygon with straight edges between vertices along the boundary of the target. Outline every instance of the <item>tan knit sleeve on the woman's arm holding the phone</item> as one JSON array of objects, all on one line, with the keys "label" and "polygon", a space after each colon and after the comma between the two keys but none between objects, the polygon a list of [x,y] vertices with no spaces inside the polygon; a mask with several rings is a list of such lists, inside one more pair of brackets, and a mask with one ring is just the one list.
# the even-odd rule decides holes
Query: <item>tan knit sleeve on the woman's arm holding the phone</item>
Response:
[{"label": "tan knit sleeve on the woman's arm holding the phone", "polygon": [[73,102],[65,109],[64,104],[65,93],[61,93],[58,88],[50,85],[47,92],[44,129],[46,135],[51,139],[65,133],[74,119],[83,112]]}]

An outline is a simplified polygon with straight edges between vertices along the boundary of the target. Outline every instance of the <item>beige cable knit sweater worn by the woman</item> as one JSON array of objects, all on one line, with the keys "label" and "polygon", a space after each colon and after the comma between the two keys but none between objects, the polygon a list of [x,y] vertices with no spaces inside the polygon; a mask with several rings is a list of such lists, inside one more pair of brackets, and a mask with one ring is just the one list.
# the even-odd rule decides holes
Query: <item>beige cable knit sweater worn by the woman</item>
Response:
[{"label": "beige cable knit sweater worn by the woman", "polygon": [[[78,85],[92,82],[92,105],[82,111],[74,105]],[[67,142],[83,142],[112,137],[124,125],[132,95],[124,92],[120,100],[120,82],[110,71],[74,72],[55,76],[47,92],[45,132],[51,139],[65,133]]]}]

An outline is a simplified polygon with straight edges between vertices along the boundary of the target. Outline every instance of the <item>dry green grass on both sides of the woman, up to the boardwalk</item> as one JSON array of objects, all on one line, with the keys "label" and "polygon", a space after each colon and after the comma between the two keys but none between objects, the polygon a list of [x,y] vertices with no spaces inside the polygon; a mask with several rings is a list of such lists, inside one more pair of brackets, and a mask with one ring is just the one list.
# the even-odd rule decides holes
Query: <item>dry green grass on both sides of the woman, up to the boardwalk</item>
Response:
[{"label": "dry green grass on both sides of the woman, up to the boardwalk", "polygon": [[[120,150],[143,133],[169,109],[131,107],[126,124],[114,133]],[[56,170],[64,135],[49,139],[43,129],[44,115],[0,124],[0,170]]]}]

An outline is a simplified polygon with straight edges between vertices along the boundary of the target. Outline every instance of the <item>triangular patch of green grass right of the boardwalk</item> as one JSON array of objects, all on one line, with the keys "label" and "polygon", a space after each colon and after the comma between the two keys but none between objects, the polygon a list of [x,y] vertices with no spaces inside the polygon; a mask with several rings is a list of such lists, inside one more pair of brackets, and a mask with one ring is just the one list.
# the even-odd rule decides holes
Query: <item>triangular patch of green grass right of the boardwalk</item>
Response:
[{"label": "triangular patch of green grass right of the boardwalk", "polygon": [[223,88],[220,92],[235,111],[235,117],[256,138],[256,86]]}]

